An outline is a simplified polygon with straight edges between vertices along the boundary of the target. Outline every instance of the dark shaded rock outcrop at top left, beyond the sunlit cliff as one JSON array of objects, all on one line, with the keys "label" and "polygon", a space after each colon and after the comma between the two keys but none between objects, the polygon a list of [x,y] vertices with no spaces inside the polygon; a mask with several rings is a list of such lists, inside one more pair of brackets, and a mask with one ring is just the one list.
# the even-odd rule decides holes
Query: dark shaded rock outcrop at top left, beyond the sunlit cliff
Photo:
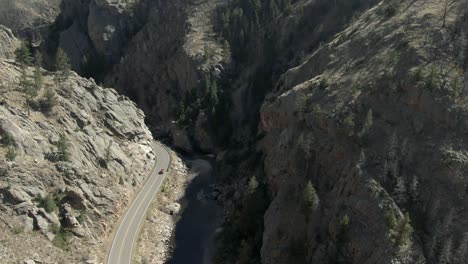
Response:
[{"label": "dark shaded rock outcrop at top left, beyond the sunlit cliff", "polygon": [[56,45],[67,52],[74,69],[89,75],[118,62],[136,24],[133,5],[130,0],[62,1],[52,34],[58,34]]}]

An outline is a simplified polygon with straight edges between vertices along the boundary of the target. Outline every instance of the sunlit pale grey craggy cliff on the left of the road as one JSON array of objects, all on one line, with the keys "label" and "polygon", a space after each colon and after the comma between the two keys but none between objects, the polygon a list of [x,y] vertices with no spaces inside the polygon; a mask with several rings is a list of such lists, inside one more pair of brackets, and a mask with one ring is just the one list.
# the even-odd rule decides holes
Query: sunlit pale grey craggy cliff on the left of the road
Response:
[{"label": "sunlit pale grey craggy cliff on the left of the road", "polygon": [[[31,68],[26,72],[32,75]],[[17,89],[18,67],[0,60],[0,135],[14,142],[0,147],[0,225],[7,240],[0,252],[8,250],[6,262],[79,263],[105,252],[122,205],[153,168],[152,136],[143,112],[115,90],[75,73],[58,85],[56,76],[43,74],[57,106],[49,114],[28,113],[26,96]],[[43,98],[44,89],[32,102]],[[63,144],[69,162],[56,159]],[[11,149],[13,161],[5,158]],[[26,233],[31,226],[40,232]],[[50,244],[47,239],[73,250],[37,246]]]}]

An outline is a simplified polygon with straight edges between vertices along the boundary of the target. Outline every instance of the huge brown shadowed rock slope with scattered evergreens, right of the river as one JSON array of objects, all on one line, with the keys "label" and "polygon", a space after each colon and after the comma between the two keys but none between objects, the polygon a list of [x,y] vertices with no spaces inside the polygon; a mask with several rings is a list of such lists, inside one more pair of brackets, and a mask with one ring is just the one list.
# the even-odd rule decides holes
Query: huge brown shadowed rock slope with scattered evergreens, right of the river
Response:
[{"label": "huge brown shadowed rock slope with scattered evergreens, right of the river", "polygon": [[[464,262],[464,4],[441,28],[440,4],[380,3],[282,75],[261,109],[263,263]],[[320,207],[304,213],[308,181]]]}]

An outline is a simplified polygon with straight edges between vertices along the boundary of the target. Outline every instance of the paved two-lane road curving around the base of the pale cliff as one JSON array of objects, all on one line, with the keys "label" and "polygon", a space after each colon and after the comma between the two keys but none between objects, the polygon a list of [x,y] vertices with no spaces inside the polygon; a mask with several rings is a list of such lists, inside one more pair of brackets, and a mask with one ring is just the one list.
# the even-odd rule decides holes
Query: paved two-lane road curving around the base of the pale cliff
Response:
[{"label": "paved two-lane road curving around the base of the pale cliff", "polygon": [[[118,230],[112,241],[108,264],[131,264],[132,251],[135,247],[139,228],[145,218],[146,211],[158,192],[161,184],[166,177],[166,171],[169,167],[170,156],[166,149],[160,144],[153,146],[157,157],[157,163],[151,178],[138,193],[137,197],[128,208],[127,213],[120,221]],[[158,174],[163,169],[164,174]]]}]

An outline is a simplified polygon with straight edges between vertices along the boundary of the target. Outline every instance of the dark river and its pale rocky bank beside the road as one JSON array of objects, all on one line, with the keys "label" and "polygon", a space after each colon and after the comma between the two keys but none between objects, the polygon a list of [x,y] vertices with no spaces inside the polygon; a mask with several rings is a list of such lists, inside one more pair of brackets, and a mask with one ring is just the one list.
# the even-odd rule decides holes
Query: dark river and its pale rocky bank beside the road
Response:
[{"label": "dark river and its pale rocky bank beside the road", "polygon": [[171,157],[169,175],[145,219],[134,262],[211,264],[222,213],[212,199],[215,163],[173,151]]}]

